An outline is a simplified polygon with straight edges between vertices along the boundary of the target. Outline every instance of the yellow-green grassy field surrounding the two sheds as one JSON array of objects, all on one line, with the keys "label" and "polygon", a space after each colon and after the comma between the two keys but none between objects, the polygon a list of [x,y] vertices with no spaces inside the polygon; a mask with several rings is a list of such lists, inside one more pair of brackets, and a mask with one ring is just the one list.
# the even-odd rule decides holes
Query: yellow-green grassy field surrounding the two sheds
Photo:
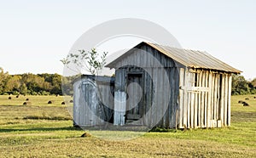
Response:
[{"label": "yellow-green grassy field surrounding the two sheds", "polygon": [[[111,141],[84,131],[73,121],[61,96],[0,96],[0,157],[255,157],[256,99],[233,96],[231,127],[170,133]],[[22,105],[26,99],[31,105]],[[249,98],[250,106],[238,100]],[[49,100],[54,104],[47,104]],[[90,132],[91,133],[91,132]],[[128,135],[132,132],[98,132]]]}]

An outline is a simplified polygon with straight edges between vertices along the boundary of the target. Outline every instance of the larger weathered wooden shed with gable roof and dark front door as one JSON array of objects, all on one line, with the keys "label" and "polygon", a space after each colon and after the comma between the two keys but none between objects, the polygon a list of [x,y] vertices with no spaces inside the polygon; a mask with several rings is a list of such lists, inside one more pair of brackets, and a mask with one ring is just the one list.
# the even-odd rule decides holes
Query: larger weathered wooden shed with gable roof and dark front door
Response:
[{"label": "larger weathered wooden shed with gable roof and dark front door", "polygon": [[206,52],[141,42],[107,67],[114,125],[230,126],[231,75],[241,71]]}]

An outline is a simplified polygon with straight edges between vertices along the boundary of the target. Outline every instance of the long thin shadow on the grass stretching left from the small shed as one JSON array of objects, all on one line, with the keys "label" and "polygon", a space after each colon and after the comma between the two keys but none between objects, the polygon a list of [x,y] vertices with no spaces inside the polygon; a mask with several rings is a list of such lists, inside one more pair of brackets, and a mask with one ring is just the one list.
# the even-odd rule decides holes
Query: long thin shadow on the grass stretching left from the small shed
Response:
[{"label": "long thin shadow on the grass stretching left from the small shed", "polygon": [[12,129],[12,128],[2,128],[0,133],[14,133],[14,132],[54,132],[54,131],[82,131],[83,129],[79,127],[33,127],[27,129]]}]

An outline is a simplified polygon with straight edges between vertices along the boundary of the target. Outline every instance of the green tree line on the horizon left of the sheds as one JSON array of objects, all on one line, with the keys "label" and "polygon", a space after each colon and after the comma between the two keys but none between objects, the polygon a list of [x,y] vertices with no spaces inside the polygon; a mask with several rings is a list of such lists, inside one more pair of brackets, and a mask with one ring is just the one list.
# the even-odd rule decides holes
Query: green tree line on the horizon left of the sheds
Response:
[{"label": "green tree line on the horizon left of the sheds", "polygon": [[67,94],[72,94],[73,85],[58,74],[32,74],[9,75],[0,68],[0,94],[31,94],[31,95],[62,95],[61,82],[67,89]]}]

